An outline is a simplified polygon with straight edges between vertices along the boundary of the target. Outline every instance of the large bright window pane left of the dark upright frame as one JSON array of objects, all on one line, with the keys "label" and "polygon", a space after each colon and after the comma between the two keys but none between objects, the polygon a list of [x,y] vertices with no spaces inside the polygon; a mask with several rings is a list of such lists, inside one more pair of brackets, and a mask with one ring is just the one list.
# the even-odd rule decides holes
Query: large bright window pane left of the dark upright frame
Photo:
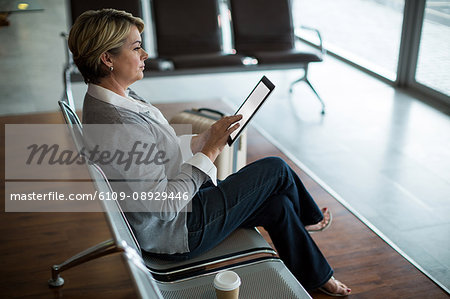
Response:
[{"label": "large bright window pane left of the dark upright frame", "polygon": [[404,0],[296,0],[293,19],[296,27],[319,29],[328,51],[394,81],[404,5]]}]

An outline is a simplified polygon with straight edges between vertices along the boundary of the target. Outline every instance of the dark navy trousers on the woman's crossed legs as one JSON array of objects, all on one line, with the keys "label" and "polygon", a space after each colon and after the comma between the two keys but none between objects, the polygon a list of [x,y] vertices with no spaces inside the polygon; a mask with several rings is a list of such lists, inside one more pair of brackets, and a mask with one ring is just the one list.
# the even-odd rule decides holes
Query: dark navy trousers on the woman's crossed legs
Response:
[{"label": "dark navy trousers on the woman's crossed legs", "polygon": [[282,159],[261,159],[217,187],[202,186],[188,213],[186,255],[210,250],[239,227],[263,226],[289,270],[305,288],[315,289],[333,275],[305,229],[322,219],[300,178]]}]

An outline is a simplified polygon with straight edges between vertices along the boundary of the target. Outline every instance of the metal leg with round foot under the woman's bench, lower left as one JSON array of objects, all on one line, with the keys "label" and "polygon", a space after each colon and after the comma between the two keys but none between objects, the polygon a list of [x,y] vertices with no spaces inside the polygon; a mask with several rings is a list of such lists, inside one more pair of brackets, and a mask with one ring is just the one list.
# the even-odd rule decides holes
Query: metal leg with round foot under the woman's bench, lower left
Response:
[{"label": "metal leg with round foot under the woman's bench, lower left", "polygon": [[75,267],[77,265],[83,264],[85,262],[88,262],[90,260],[108,255],[110,253],[123,251],[123,249],[118,248],[114,240],[106,240],[100,244],[97,244],[95,246],[92,246],[74,256],[71,258],[65,260],[59,265],[53,265],[51,267],[52,269],[52,278],[48,280],[48,285],[50,287],[61,287],[64,285],[64,279],[59,276],[59,273],[61,273],[64,270],[70,269],[72,267]]}]

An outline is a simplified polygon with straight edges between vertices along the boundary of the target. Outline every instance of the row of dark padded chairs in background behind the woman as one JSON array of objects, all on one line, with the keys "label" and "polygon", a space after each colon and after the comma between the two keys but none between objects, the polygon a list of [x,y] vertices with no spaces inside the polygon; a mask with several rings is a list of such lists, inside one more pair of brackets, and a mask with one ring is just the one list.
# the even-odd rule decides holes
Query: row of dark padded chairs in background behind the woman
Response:
[{"label": "row of dark padded chairs in background behind the woman", "polygon": [[[226,5],[227,13],[221,13]],[[325,104],[308,80],[308,66],[320,62],[324,50],[319,31],[319,50],[300,51],[296,42],[291,0],[128,0],[70,1],[70,23],[89,9],[116,8],[142,17],[150,36],[143,38],[150,47],[146,76],[192,73],[255,71],[263,69],[300,69],[302,76],[291,83],[306,82],[317,96],[325,113]],[[147,16],[150,16],[148,19]],[[224,28],[230,28],[231,49],[224,46]],[[144,32],[145,33],[145,32]],[[76,68],[70,60],[64,73],[69,88]]]}]

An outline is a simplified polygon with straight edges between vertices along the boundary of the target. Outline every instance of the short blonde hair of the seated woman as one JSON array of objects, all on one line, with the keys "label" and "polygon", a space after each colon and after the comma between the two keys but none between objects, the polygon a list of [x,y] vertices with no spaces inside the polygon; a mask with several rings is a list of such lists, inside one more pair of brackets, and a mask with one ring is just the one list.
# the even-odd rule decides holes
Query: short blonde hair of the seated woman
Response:
[{"label": "short blonde hair of the seated woman", "polygon": [[88,10],[76,19],[68,43],[85,83],[99,83],[109,75],[100,57],[105,52],[120,53],[133,25],[139,33],[144,30],[142,19],[115,9]]}]

